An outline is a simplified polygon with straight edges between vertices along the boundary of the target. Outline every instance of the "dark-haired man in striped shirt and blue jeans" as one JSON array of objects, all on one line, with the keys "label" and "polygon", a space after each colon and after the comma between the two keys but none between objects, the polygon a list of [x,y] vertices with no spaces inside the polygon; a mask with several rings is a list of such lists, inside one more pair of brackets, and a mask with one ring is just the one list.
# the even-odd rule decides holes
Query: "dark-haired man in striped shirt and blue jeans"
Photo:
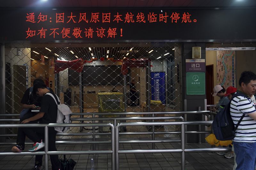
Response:
[{"label": "dark-haired man in striped shirt and blue jeans", "polygon": [[235,126],[245,114],[233,139],[236,170],[254,170],[256,163],[256,109],[251,96],[256,92],[256,75],[251,71],[242,72],[239,86],[237,92],[244,93],[248,97],[237,96],[230,104],[230,115]]}]

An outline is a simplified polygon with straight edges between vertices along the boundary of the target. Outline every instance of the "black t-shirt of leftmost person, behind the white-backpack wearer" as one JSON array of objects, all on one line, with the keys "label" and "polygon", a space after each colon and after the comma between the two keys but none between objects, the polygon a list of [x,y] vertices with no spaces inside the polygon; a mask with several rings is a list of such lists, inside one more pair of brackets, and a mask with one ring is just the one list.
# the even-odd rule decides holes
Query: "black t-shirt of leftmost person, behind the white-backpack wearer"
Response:
[{"label": "black t-shirt of leftmost person, behind the white-backpack wearer", "polygon": [[[31,92],[30,97],[29,97],[30,88],[31,88],[31,87],[29,87],[29,88],[25,91],[25,93],[24,93],[24,95],[23,95],[23,97],[22,97],[20,103],[22,103],[22,104],[28,104],[28,105],[33,105],[33,104],[34,104],[34,105],[36,105],[36,106],[41,106],[41,101],[42,101],[42,98],[43,98],[43,97],[40,97],[40,96],[37,95],[36,93],[33,93],[33,91]],[[53,92],[51,88],[50,88],[50,92]]]}]

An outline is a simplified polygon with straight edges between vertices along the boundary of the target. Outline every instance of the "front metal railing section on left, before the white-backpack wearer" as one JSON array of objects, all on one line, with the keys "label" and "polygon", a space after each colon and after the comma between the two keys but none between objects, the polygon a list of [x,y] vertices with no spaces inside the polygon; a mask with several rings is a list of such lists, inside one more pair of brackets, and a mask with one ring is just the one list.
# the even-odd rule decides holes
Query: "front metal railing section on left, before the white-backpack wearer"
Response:
[{"label": "front metal railing section on left, before the white-backpack wearer", "polygon": [[[103,151],[48,151],[48,128],[49,127],[87,127],[87,126],[109,126],[111,128],[111,150],[103,150]],[[112,154],[112,170],[115,170],[115,127],[111,123],[50,123],[50,124],[0,124],[0,128],[31,128],[31,127],[44,127],[44,138],[45,138],[45,146],[44,152],[20,152],[20,153],[13,153],[13,152],[1,152],[0,156],[6,155],[45,155],[45,169],[48,170],[48,155],[56,155],[56,154]]]}]

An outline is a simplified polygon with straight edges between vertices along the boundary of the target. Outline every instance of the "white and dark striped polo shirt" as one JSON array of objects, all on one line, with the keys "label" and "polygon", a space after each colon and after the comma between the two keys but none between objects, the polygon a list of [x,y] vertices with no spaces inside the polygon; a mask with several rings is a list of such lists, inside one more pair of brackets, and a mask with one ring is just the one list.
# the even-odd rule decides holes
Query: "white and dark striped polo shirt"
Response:
[{"label": "white and dark striped polo shirt", "polygon": [[231,101],[230,115],[235,126],[245,114],[236,130],[234,142],[256,142],[256,121],[249,116],[253,112],[256,112],[256,109],[250,97],[237,96]]}]

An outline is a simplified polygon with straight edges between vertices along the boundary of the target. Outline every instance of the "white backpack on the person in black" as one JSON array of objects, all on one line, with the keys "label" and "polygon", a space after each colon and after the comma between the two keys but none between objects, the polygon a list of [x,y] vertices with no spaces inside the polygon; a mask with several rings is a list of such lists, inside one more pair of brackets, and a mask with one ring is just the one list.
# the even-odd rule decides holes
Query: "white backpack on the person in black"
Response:
[{"label": "white backpack on the person in black", "polygon": [[[55,100],[56,104],[58,105],[58,112],[57,112],[57,119],[56,123],[71,123],[70,121],[70,114],[72,111],[68,107],[68,105],[65,104],[58,104],[56,101],[56,98],[58,99],[58,102],[60,103],[60,99],[58,96],[55,94],[56,98],[51,94],[51,93],[46,93]],[[54,127],[54,130],[57,131],[57,133],[64,133],[69,129],[69,127]]]}]

